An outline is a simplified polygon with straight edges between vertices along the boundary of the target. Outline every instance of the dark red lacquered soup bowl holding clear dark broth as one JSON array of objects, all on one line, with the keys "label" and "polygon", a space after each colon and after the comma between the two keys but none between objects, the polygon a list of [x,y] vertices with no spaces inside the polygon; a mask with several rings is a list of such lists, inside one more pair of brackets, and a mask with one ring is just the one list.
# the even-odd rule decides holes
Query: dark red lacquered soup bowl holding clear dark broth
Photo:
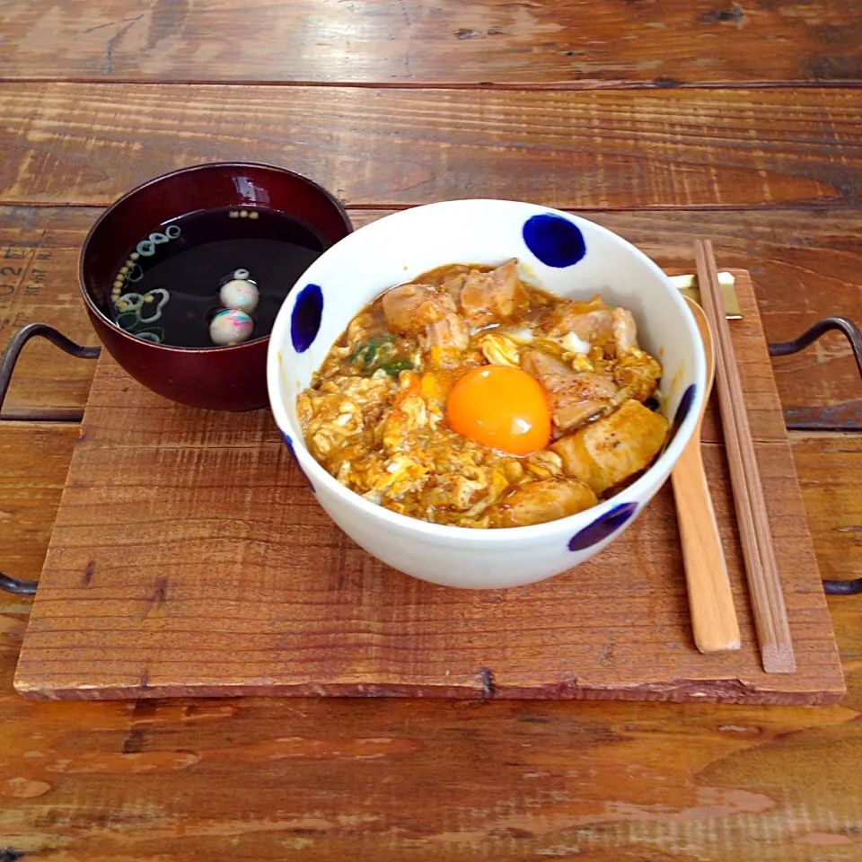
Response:
[{"label": "dark red lacquered soup bowl holding clear dark broth", "polygon": [[299,173],[250,162],[197,164],[146,181],[99,216],[81,251],[81,290],[101,343],[139,383],[190,407],[265,407],[268,335],[227,347],[174,347],[136,338],[110,313],[111,285],[129,249],[170,219],[220,207],[269,207],[330,243],[352,230],[339,201]]}]

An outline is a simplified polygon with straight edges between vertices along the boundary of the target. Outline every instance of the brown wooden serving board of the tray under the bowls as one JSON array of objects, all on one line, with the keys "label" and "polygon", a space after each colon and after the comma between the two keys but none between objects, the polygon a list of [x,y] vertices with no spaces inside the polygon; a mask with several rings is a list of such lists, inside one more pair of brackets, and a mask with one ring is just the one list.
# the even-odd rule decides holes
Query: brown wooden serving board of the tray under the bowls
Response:
[{"label": "brown wooden serving board of the tray under the bowls", "polygon": [[751,280],[734,344],[798,670],[763,673],[713,403],[705,460],[743,648],[700,655],[670,483],[620,540],[539,585],[401,575],[315,502],[268,411],[145,391],[103,355],[15,676],[30,698],[351,695],[829,703],[831,620]]}]

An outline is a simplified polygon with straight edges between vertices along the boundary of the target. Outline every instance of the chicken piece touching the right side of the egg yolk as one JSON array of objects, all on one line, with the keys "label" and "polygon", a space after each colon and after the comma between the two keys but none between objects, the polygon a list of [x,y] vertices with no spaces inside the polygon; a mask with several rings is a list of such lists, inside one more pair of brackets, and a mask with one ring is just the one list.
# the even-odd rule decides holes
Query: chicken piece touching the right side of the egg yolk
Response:
[{"label": "chicken piece touching the right side of the egg yolk", "polygon": [[617,387],[602,374],[573,371],[553,356],[532,348],[523,351],[521,365],[547,393],[551,418],[560,431],[569,431],[615,406]]}]

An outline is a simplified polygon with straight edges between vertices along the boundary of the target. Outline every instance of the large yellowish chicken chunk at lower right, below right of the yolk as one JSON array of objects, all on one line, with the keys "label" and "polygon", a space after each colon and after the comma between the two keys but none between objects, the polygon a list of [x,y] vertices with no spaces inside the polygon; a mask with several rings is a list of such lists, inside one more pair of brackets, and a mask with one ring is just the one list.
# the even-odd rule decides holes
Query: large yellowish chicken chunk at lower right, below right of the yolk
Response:
[{"label": "large yellowish chicken chunk at lower right, below right of the yolk", "polygon": [[563,437],[550,448],[563,459],[567,476],[602,494],[646,469],[664,444],[668,421],[627,400],[620,409]]}]

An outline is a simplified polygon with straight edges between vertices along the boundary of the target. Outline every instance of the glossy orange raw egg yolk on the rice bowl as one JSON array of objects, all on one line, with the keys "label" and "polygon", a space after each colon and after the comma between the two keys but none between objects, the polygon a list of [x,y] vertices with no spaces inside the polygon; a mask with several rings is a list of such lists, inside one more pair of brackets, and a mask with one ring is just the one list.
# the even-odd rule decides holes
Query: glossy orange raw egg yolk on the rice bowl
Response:
[{"label": "glossy orange raw egg yolk on the rice bowl", "polygon": [[446,402],[449,427],[513,455],[544,449],[550,411],[539,382],[508,365],[481,365],[455,383]]}]

